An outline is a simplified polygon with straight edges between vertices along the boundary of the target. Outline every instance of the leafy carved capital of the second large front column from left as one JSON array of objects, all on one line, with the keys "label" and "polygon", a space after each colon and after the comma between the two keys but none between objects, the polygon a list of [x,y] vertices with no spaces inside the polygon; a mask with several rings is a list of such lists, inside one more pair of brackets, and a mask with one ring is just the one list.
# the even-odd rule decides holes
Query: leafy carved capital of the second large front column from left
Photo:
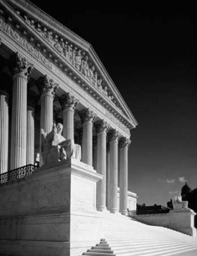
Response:
[{"label": "leafy carved capital of the second large front column from left", "polygon": [[53,97],[55,97],[55,94],[57,93],[58,84],[53,81],[48,75],[45,75],[41,77],[38,81],[38,90],[42,95],[49,94]]}]

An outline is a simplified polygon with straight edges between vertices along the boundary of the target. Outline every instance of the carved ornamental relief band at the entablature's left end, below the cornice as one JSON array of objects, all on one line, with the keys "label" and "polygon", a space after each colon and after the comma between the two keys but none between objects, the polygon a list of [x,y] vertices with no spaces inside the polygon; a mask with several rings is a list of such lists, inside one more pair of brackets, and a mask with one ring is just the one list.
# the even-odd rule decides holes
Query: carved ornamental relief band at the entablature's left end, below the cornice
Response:
[{"label": "carved ornamental relief band at the entablature's left end, below the cornice", "polygon": [[36,59],[42,62],[47,67],[51,68],[51,61],[46,59],[43,54],[41,54],[36,48],[34,48],[25,38],[23,38],[15,29],[13,29],[9,24],[5,23],[2,18],[0,18],[0,30],[5,32],[9,37],[13,38],[18,42],[26,51],[32,54]]}]

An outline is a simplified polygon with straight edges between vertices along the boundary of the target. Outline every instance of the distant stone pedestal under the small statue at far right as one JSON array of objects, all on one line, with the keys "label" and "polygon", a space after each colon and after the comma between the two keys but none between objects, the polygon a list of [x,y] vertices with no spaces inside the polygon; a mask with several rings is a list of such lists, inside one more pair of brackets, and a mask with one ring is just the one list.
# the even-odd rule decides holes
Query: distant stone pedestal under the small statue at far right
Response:
[{"label": "distant stone pedestal under the small statue at far right", "polygon": [[195,215],[196,213],[191,209],[171,210],[169,212],[169,228],[196,237]]}]

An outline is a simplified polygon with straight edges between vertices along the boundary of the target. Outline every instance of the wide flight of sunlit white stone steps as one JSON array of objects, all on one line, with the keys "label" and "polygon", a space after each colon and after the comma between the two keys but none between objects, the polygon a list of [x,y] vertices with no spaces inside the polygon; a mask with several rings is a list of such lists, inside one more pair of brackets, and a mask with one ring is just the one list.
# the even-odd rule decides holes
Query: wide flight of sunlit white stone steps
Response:
[{"label": "wide flight of sunlit white stone steps", "polygon": [[125,216],[105,213],[103,219],[104,238],[83,255],[189,256],[191,251],[196,251],[197,255],[197,238],[164,227],[149,226]]}]

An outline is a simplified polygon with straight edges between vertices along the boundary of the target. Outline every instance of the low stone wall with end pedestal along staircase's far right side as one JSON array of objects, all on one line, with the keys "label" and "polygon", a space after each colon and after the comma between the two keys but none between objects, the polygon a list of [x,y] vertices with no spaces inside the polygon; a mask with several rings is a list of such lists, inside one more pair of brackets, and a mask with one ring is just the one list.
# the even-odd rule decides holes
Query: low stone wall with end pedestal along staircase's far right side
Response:
[{"label": "low stone wall with end pedestal along staircase's far right side", "polygon": [[149,225],[170,228],[190,236],[196,237],[194,216],[196,213],[191,209],[171,210],[162,214],[141,214],[133,218]]}]

